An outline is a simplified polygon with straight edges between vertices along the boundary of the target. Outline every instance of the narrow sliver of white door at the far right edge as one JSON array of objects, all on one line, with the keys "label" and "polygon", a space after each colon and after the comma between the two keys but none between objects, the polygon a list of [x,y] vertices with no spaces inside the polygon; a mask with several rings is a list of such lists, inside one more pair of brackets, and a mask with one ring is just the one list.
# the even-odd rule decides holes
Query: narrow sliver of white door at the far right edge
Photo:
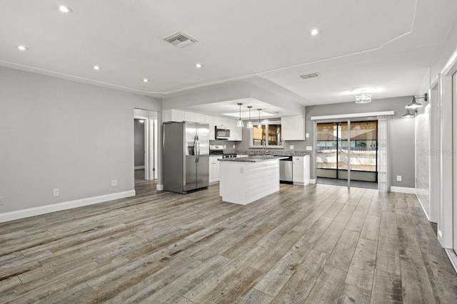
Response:
[{"label": "narrow sliver of white door at the far right edge", "polygon": [[[457,253],[457,73],[452,76],[453,249]],[[446,152],[446,151],[444,151]]]}]

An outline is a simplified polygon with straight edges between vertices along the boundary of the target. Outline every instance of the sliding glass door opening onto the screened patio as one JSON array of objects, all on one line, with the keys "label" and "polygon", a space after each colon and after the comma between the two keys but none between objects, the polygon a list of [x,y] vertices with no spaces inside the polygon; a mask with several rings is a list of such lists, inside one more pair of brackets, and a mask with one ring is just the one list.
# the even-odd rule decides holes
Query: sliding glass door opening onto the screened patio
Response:
[{"label": "sliding glass door opening onto the screened patio", "polygon": [[378,120],[316,124],[316,182],[378,189]]}]

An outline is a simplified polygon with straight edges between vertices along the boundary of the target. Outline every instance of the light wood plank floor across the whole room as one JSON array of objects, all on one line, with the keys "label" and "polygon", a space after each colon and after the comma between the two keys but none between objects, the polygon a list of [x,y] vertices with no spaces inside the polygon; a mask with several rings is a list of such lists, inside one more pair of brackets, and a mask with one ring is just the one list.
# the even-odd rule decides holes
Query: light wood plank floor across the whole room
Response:
[{"label": "light wood plank floor across the whole room", "polygon": [[457,276],[411,194],[219,187],[0,224],[0,303],[457,303]]}]

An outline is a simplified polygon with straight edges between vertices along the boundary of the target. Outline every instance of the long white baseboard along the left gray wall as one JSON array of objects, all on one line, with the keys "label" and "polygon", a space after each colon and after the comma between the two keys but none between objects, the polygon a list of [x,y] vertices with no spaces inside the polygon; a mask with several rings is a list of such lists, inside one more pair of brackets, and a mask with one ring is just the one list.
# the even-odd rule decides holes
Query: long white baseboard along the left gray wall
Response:
[{"label": "long white baseboard along the left gray wall", "polygon": [[86,199],[76,199],[75,201],[64,201],[62,203],[57,204],[6,212],[4,214],[0,214],[0,223],[4,223],[5,221],[14,221],[15,219],[24,219],[30,216],[48,214],[51,212],[62,211],[66,209],[78,208],[81,206],[99,204],[103,203],[104,201],[112,201],[114,199],[124,199],[125,197],[129,196],[135,196],[135,190],[88,197]]}]

